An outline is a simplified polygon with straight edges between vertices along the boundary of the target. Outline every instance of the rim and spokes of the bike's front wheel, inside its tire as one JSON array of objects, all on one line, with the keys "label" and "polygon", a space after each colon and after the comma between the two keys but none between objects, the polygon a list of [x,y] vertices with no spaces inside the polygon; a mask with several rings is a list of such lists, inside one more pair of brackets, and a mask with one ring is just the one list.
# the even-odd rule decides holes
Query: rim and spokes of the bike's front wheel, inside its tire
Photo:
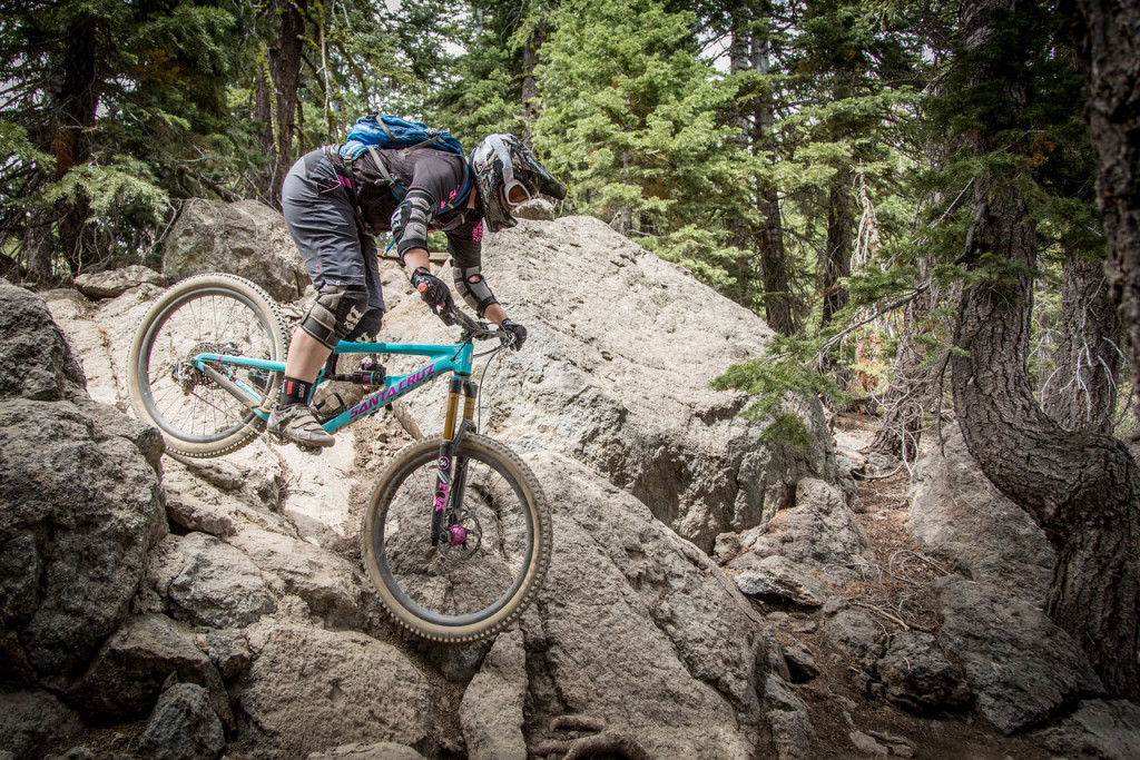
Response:
[{"label": "rim and spokes of the bike's front wheel, inside its tire", "polygon": [[534,515],[522,487],[502,463],[463,453],[467,474],[458,526],[466,546],[431,545],[438,472],[431,451],[385,489],[381,498],[388,507],[372,534],[375,566],[388,591],[415,618],[443,627],[499,613],[519,596],[534,562]]}]

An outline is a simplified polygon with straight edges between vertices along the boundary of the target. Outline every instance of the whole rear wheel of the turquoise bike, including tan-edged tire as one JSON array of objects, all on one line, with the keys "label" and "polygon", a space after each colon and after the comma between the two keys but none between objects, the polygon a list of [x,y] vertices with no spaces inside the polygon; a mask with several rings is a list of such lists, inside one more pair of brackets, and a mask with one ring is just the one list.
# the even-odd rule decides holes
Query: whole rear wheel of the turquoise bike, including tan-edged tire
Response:
[{"label": "whole rear wheel of the turquoise bike, including tan-edged tire", "polygon": [[[128,360],[131,403],[160,431],[166,449],[186,457],[215,457],[238,449],[264,423],[217,377],[190,360],[201,353],[284,361],[288,350],[277,303],[233,275],[201,275],[168,291],[142,319]],[[211,369],[264,398],[282,373],[213,362]]]}]

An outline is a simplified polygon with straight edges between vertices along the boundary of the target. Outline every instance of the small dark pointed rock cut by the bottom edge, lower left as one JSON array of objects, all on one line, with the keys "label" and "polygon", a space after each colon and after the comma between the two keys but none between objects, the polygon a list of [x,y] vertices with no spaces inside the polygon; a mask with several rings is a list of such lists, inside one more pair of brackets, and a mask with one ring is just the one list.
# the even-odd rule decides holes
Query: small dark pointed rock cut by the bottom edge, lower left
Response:
[{"label": "small dark pointed rock cut by the bottom edge, lower left", "polygon": [[155,760],[217,760],[225,749],[210,695],[196,684],[163,692],[139,739],[139,755]]}]

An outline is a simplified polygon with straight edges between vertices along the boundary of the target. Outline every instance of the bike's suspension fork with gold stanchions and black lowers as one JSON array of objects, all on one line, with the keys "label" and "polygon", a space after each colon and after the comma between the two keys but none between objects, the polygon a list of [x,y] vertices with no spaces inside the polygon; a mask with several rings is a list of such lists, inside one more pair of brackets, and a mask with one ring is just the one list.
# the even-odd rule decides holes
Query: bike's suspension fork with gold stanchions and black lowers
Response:
[{"label": "bike's suspension fork with gold stanchions and black lowers", "polygon": [[[463,392],[463,419],[457,420],[459,411],[459,393]],[[470,378],[453,376],[447,392],[447,416],[443,420],[443,441],[439,447],[439,459],[435,473],[435,498],[432,505],[431,542],[462,544],[462,529],[451,531],[457,515],[454,507],[463,504],[463,495],[467,484],[467,458],[456,457],[455,452],[463,442],[463,436],[474,432],[475,399],[479,386]],[[458,422],[458,425],[456,423]]]}]

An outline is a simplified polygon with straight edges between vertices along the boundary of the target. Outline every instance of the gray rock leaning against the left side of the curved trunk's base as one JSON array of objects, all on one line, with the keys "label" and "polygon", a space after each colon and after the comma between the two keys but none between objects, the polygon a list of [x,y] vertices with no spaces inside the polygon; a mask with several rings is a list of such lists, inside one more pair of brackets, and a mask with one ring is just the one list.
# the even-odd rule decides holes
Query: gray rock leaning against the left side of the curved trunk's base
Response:
[{"label": "gray rock leaning against the left side of the curved trunk's base", "polygon": [[956,425],[943,434],[943,452],[933,447],[919,460],[907,530],[972,580],[1044,604],[1057,556],[1044,532],[986,479]]}]

